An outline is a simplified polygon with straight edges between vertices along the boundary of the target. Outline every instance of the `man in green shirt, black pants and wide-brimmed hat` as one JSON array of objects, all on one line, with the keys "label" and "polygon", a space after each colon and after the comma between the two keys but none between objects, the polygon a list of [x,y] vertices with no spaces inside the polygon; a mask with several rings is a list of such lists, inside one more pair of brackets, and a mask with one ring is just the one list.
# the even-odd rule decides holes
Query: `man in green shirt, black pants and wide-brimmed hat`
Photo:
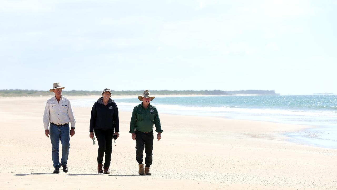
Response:
[{"label": "man in green shirt, black pants and wide-brimmed hat", "polygon": [[[153,124],[156,126],[158,141],[161,139],[163,130],[161,130],[157,108],[150,105],[150,101],[154,99],[154,96],[146,90],[143,95],[138,96],[138,99],[142,101],[142,103],[133,108],[129,133],[131,133],[131,138],[136,141],[136,160],[139,165],[138,173],[140,175],[151,175],[150,165],[152,164]],[[143,164],[144,147],[146,153],[145,171]]]}]

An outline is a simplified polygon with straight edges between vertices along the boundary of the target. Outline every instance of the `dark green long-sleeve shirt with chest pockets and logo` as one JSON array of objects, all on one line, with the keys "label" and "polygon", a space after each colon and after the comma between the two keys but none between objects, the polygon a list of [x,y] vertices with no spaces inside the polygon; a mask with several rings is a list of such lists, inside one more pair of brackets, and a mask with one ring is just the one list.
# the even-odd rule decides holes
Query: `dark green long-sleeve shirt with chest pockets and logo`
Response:
[{"label": "dark green long-sleeve shirt with chest pockets and logo", "polygon": [[129,133],[134,133],[134,129],[141,132],[150,132],[153,130],[153,124],[156,126],[157,133],[163,132],[163,130],[161,130],[157,108],[149,104],[145,110],[142,102],[133,108]]}]

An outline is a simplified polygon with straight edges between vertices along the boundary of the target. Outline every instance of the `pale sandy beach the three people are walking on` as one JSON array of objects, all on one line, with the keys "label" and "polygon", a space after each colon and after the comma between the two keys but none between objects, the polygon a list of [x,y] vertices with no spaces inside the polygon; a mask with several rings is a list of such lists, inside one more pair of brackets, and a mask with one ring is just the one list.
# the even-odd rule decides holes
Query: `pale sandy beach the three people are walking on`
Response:
[{"label": "pale sandy beach the three people are walking on", "polygon": [[[68,97],[70,100],[91,96]],[[110,175],[97,173],[91,107],[73,107],[69,172],[54,174],[42,116],[50,97],[0,98],[1,189],[336,189],[337,150],[290,142],[310,126],[160,114],[151,176],[138,175],[130,112],[120,112]],[[97,96],[93,97],[97,99]],[[155,105],[155,102],[153,102]],[[61,156],[60,149],[60,156]]]}]

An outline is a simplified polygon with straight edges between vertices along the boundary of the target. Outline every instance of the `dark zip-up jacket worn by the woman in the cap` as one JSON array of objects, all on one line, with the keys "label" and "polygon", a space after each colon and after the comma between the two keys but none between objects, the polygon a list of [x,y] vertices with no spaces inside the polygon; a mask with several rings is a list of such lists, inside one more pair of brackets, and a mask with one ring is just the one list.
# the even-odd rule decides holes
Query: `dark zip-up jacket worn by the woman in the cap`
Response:
[{"label": "dark zip-up jacket worn by the woman in the cap", "polygon": [[105,106],[99,98],[94,103],[91,109],[90,130],[94,132],[95,129],[115,129],[119,132],[118,108],[114,100],[109,99],[109,103]]}]

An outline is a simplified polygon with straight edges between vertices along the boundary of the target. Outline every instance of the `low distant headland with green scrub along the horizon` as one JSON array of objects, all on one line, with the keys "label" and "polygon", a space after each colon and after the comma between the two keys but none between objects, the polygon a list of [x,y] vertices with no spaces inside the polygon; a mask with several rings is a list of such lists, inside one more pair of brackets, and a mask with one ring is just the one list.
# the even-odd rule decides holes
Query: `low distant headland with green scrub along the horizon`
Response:
[{"label": "low distant headland with green scrub along the horizon", "polygon": [[[143,90],[126,90],[126,91],[112,91],[112,95],[139,95],[143,94]],[[222,90],[150,90],[151,94],[156,95],[275,95],[274,90],[240,90],[240,91],[222,91]],[[101,95],[101,91],[84,91],[84,90],[71,90],[62,91],[63,95],[67,96],[90,96],[90,95]],[[0,96],[13,97],[13,96],[50,96],[52,93],[49,91],[38,91],[38,90],[20,90],[20,89],[9,89],[0,90]]]}]

